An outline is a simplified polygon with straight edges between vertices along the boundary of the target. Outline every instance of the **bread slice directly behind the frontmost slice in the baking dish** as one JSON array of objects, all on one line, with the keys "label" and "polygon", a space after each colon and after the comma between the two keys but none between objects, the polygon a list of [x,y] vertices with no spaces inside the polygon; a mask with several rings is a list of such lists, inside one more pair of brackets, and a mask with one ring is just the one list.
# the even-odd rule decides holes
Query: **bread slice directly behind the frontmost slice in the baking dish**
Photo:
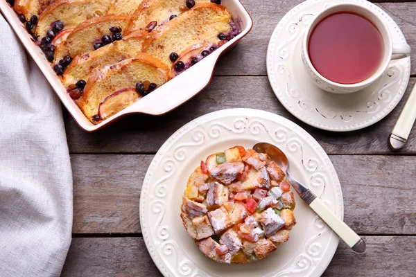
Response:
[{"label": "bread slice directly behind the frontmost slice in the baking dish", "polygon": [[62,83],[65,87],[75,84],[78,80],[87,80],[96,69],[107,64],[116,64],[130,57],[135,57],[141,51],[141,44],[146,33],[135,32],[123,39],[107,44],[86,55],[78,55],[64,71]]}]

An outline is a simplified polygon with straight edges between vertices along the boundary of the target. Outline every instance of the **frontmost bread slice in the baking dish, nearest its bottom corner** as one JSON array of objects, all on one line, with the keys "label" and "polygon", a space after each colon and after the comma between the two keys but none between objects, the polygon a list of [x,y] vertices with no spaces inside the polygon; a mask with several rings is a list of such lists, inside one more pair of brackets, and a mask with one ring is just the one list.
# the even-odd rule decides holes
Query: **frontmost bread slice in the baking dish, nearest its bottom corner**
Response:
[{"label": "frontmost bread slice in the baking dish, nearest its bottom corner", "polygon": [[[87,80],[83,96],[76,100],[85,116],[92,120],[98,114],[98,105],[119,89],[135,87],[136,82],[148,80],[157,87],[170,78],[168,68],[154,57],[139,54],[117,64],[104,66]],[[94,122],[96,120],[92,120]]]}]

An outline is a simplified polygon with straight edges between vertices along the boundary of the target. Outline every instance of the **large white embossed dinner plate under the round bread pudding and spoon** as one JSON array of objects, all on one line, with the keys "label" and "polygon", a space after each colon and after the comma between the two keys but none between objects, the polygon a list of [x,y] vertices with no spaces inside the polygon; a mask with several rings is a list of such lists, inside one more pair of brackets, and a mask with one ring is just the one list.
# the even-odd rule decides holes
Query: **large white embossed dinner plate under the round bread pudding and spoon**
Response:
[{"label": "large white embossed dinner plate under the round bread pudding and spoon", "polygon": [[338,236],[295,196],[297,224],[290,240],[267,258],[246,265],[218,264],[188,236],[180,204],[189,175],[209,154],[234,145],[277,145],[291,174],[343,218],[343,194],[327,154],[290,120],[257,109],[225,109],[196,118],[173,134],[148,168],[140,197],[146,247],[164,276],[320,276],[331,262]]}]

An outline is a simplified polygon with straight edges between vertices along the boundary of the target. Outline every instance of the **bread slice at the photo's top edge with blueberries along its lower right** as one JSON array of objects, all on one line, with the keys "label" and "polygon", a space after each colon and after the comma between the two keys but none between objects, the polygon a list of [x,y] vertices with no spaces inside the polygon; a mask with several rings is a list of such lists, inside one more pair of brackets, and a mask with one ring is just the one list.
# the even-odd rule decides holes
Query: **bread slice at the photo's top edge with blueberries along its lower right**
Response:
[{"label": "bread slice at the photo's top edge with blueberries along its lower right", "polygon": [[[196,0],[196,3],[208,3],[209,0]],[[151,21],[156,21],[157,25],[166,24],[171,15],[179,15],[187,9],[184,0],[144,0],[135,13],[128,26],[128,30],[146,30],[146,26]]]}]

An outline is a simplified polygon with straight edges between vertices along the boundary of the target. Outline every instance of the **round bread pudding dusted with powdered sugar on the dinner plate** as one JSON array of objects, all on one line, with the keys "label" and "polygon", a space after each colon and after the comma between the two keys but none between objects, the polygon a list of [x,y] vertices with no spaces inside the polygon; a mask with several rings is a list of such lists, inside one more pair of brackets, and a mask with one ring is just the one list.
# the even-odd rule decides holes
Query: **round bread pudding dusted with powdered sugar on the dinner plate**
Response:
[{"label": "round bread pudding dusted with powdered sugar on the dinner plate", "polygon": [[205,256],[221,263],[266,258],[289,239],[295,198],[267,154],[242,146],[211,154],[191,174],[182,222]]}]

